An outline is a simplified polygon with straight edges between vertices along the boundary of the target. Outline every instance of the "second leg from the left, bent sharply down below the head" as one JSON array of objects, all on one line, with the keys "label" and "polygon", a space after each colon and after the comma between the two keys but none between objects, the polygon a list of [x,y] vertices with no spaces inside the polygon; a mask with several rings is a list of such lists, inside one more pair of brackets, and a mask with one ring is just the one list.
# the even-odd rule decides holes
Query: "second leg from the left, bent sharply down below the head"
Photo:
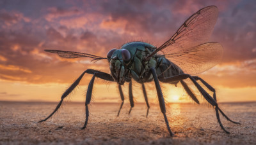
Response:
[{"label": "second leg from the left, bent sharply down below the head", "polygon": [[92,89],[93,89],[93,83],[94,83],[95,77],[105,79],[105,80],[113,79],[110,74],[107,74],[105,72],[100,72],[100,71],[95,71],[95,70],[92,70],[92,72],[94,72],[94,74],[92,76],[92,79],[88,85],[88,89],[86,92],[86,100],[85,100],[85,117],[86,118],[85,118],[84,126],[81,129],[86,128],[86,125],[88,123],[88,118],[89,118],[88,104],[90,104],[91,99],[92,99]]}]

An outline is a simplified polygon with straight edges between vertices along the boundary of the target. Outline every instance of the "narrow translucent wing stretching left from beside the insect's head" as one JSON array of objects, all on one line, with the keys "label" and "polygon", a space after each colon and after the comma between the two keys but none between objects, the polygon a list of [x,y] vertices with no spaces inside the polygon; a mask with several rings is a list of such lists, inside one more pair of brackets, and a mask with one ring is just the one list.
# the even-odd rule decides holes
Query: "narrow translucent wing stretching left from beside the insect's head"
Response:
[{"label": "narrow translucent wing stretching left from beside the insect's head", "polygon": [[51,53],[57,53],[60,57],[67,58],[67,59],[74,59],[77,57],[88,57],[88,58],[92,58],[95,61],[98,61],[101,59],[107,59],[105,57],[99,57],[96,55],[91,55],[88,53],[81,53],[81,52],[69,52],[69,51],[62,51],[62,50],[44,50],[44,51],[51,52]]}]

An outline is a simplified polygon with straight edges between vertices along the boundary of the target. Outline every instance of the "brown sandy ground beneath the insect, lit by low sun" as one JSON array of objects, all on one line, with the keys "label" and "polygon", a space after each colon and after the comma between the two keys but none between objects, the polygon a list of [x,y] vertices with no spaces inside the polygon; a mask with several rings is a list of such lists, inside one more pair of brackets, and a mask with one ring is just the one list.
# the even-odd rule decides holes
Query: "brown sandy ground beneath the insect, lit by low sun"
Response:
[{"label": "brown sandy ground beneath the insect, lit by low sun", "polygon": [[120,104],[93,103],[85,130],[84,104],[65,103],[44,123],[37,123],[57,103],[0,102],[0,144],[256,144],[256,102],[220,104],[236,125],[221,118],[231,134],[221,130],[214,109],[207,105],[169,104],[168,120],[175,132],[170,137],[163,114],[151,105],[148,118],[145,104],[129,104],[116,117]]}]

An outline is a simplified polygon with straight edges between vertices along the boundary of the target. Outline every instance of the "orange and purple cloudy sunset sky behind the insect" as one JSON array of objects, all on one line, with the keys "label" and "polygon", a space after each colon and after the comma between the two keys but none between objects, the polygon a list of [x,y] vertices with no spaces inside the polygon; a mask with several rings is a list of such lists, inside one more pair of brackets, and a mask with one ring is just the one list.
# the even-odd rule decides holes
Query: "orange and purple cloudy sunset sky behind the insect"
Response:
[{"label": "orange and purple cloudy sunset sky behind the insect", "polygon": [[[205,6],[219,16],[211,39],[224,49],[220,64],[198,74],[216,88],[220,102],[256,101],[256,2],[229,1],[35,1],[0,0],[0,100],[58,101],[86,69],[109,72],[108,62],[63,59],[44,49],[106,57],[129,41],[162,45],[180,25]],[[91,74],[68,97],[84,101]],[[192,102],[178,85],[163,86],[168,102]],[[128,102],[125,84],[125,101]],[[192,86],[195,88],[195,86]],[[157,101],[154,83],[146,84]],[[136,102],[144,102],[134,83]],[[136,94],[137,93],[137,94]],[[206,102],[196,92],[200,102]],[[116,83],[95,79],[94,102],[120,102]]]}]

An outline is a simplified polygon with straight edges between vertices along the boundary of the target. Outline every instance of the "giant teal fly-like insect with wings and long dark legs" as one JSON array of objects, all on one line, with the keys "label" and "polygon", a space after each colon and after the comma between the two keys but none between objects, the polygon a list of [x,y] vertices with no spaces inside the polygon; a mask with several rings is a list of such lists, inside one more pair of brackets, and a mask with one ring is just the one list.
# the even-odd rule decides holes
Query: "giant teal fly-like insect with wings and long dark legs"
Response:
[{"label": "giant teal fly-like insect with wings and long dark legs", "polygon": [[[181,83],[184,87],[184,90],[188,93],[191,99],[195,100],[199,104],[198,99],[196,99],[195,94],[191,91],[191,88],[187,85],[184,79],[190,79],[199,92],[202,94],[205,100],[215,107],[216,117],[220,127],[229,134],[229,132],[223,127],[220,120],[220,113],[232,123],[240,124],[236,121],[230,120],[228,116],[221,111],[220,107],[217,104],[216,92],[214,88],[209,85],[204,79],[198,76],[191,76],[191,74],[198,74],[200,72],[207,71],[211,67],[218,64],[219,60],[222,57],[223,48],[220,43],[208,42],[209,37],[213,31],[214,25],[218,18],[218,8],[216,6],[207,6],[197,11],[191,17],[188,18],[180,26],[177,32],[166,41],[163,45],[156,46],[150,45],[143,42],[131,42],[125,43],[121,48],[113,48],[108,52],[107,57],[99,57],[96,55],[91,55],[88,53],[79,53],[79,52],[68,52],[61,50],[45,50],[46,52],[57,53],[60,57],[73,59],[77,57],[88,57],[92,60],[98,61],[106,59],[109,62],[109,69],[111,74],[106,72],[101,72],[93,69],[87,69],[84,71],[79,78],[74,81],[74,83],[63,93],[61,100],[54,109],[54,111],[44,120],[49,119],[61,106],[63,99],[76,88],[76,86],[81,81],[85,73],[93,74],[92,79],[88,85],[88,90],[86,93],[86,118],[84,126],[81,129],[86,128],[89,118],[89,108],[92,98],[93,83],[95,77],[104,79],[107,81],[115,81],[118,83],[118,89],[120,92],[120,97],[122,99],[122,104],[118,111],[124,104],[124,94],[122,92],[121,85],[124,85],[125,81],[129,83],[129,100],[131,104],[131,109],[134,106],[133,97],[132,97],[132,79],[141,83],[143,88],[143,95],[147,103],[148,109],[148,99],[147,92],[145,90],[144,83],[149,81],[154,81],[157,90],[157,97],[159,100],[159,106],[161,112],[164,116],[164,121],[168,132],[172,136],[173,133],[170,129],[167,117],[166,109],[164,104],[164,97],[159,85],[159,81],[163,83],[170,83],[177,85]],[[161,51],[161,53],[160,53]],[[197,81],[201,81],[206,88],[211,90],[213,95],[209,95],[202,86],[198,84]],[[131,109],[129,113],[131,113]],[[148,115],[147,109],[147,115]]]}]

